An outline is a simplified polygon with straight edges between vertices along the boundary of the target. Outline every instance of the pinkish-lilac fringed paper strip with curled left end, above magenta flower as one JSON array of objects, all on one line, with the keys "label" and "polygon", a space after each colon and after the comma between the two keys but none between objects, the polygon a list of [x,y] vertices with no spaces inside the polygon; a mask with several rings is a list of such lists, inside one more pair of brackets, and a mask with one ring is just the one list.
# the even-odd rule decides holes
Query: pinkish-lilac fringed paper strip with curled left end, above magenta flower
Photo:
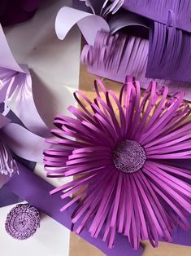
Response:
[{"label": "pinkish-lilac fringed paper strip with curled left end, above magenta flower", "polygon": [[[145,77],[149,44],[149,41],[144,38],[122,33],[111,35],[106,32],[98,32],[94,45],[85,45],[80,59],[82,64],[88,66],[89,73],[122,83],[125,82],[125,77],[128,74],[137,77],[141,86],[146,88],[150,82],[150,79]],[[154,45],[153,49],[155,49]],[[152,62],[150,62],[150,66],[152,67]],[[180,87],[184,90],[184,99],[191,99],[190,83],[158,79],[156,82],[158,85],[169,86],[169,93]]]}]

